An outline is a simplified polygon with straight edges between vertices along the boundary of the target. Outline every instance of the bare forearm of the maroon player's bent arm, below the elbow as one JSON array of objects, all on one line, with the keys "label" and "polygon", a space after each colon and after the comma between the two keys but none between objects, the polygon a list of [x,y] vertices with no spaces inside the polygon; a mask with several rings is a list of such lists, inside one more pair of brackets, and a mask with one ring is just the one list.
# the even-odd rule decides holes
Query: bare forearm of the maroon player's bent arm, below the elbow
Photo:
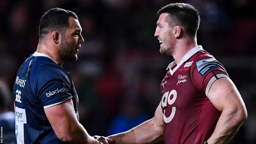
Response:
[{"label": "bare forearm of the maroon player's bent arm, below the elbow", "polygon": [[246,117],[246,113],[242,110],[223,109],[216,128],[207,142],[209,144],[227,143],[236,134]]}]

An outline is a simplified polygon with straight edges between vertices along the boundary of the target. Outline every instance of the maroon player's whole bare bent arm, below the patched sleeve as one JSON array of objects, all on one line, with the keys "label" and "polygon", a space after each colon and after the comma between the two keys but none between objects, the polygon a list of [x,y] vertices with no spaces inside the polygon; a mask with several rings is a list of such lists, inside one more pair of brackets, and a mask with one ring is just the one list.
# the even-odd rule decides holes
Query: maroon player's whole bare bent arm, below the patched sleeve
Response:
[{"label": "maroon player's whole bare bent arm, below the patched sleeve", "polygon": [[229,78],[216,80],[210,88],[208,98],[221,111],[221,116],[207,142],[209,144],[227,143],[247,118],[244,102]]}]

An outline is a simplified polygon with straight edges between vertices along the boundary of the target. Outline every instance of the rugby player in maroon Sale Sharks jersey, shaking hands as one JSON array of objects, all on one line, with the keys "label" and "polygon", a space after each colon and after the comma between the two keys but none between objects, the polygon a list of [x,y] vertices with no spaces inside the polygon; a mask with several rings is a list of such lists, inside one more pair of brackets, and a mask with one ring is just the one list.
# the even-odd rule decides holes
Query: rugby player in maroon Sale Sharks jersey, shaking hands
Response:
[{"label": "rugby player in maroon Sale Sharks jersey, shaking hands", "polygon": [[160,52],[173,56],[161,83],[155,116],[109,138],[117,144],[219,144],[228,142],[247,118],[244,102],[225,68],[197,45],[199,12],[175,3],[158,11]]}]

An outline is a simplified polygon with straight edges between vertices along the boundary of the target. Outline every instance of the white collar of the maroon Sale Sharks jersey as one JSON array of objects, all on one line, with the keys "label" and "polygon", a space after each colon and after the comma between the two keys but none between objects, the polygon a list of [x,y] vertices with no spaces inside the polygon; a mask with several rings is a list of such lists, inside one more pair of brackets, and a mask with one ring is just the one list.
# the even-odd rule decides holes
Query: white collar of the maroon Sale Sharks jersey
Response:
[{"label": "white collar of the maroon Sale Sharks jersey", "polygon": [[199,51],[201,51],[201,50],[204,50],[201,45],[192,48],[191,50],[189,50],[189,52],[188,52],[186,55],[184,55],[184,56],[182,57],[182,59],[181,59],[181,61],[179,62],[179,64],[177,64],[177,66],[176,66],[173,70],[172,70],[171,68],[172,68],[174,65],[176,65],[176,61],[173,61],[172,63],[170,63],[170,64],[168,65],[168,67],[167,67],[166,70],[169,69],[170,74],[173,75],[173,73],[180,67],[180,65],[182,65],[182,64],[183,64],[185,61],[187,61],[191,56],[193,56],[194,54],[196,54],[197,52],[199,52]]}]

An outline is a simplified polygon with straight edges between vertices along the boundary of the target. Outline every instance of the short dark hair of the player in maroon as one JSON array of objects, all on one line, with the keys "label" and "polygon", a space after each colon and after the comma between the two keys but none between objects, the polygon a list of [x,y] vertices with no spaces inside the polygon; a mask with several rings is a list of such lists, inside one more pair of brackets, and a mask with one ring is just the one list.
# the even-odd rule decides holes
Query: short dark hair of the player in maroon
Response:
[{"label": "short dark hair of the player in maroon", "polygon": [[184,3],[168,4],[159,9],[157,16],[159,17],[162,13],[169,14],[169,22],[172,19],[172,23],[175,25],[183,26],[187,35],[191,37],[196,36],[200,22],[199,12],[196,8]]}]

